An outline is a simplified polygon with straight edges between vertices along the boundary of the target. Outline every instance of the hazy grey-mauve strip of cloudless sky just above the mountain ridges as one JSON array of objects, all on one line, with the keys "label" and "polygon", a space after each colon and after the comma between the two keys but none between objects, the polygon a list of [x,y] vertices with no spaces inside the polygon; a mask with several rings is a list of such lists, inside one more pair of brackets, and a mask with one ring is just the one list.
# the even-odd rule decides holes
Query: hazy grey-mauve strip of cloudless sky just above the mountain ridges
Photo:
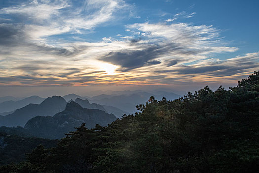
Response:
[{"label": "hazy grey-mauve strip of cloudless sky just above the mountain ridges", "polygon": [[[241,80],[241,79],[240,79]],[[238,81],[237,81],[238,82]],[[233,84],[231,86],[227,85],[215,85],[215,86],[209,86],[211,90],[215,91],[218,89],[218,87],[222,86],[226,90],[229,89],[229,87],[235,87],[237,86],[236,84]],[[202,89],[206,86],[195,86],[190,90],[179,90],[178,88],[171,88],[171,86],[168,87],[160,87],[160,86],[152,86],[147,88],[145,87],[121,87],[121,86],[111,86],[111,87],[100,87],[100,89],[90,89],[88,90],[87,87],[89,86],[11,86],[11,87],[2,87],[0,86],[1,90],[1,96],[0,97],[6,97],[6,96],[11,96],[11,97],[30,97],[30,96],[39,96],[42,98],[47,98],[47,97],[52,97],[54,95],[56,96],[65,96],[69,94],[76,94],[79,96],[88,96],[88,97],[93,97],[101,94],[112,94],[112,92],[122,92],[122,91],[143,91],[143,92],[153,92],[153,91],[165,91],[168,93],[174,93],[180,96],[186,95],[188,92],[194,93],[195,91],[198,91],[199,89]],[[41,88],[42,87],[42,88]],[[54,89],[53,89],[54,87]],[[96,88],[96,87],[94,87]],[[110,88],[110,89],[109,89]],[[185,87],[182,87],[182,89]],[[14,90],[19,90],[20,92],[13,92]]]}]

